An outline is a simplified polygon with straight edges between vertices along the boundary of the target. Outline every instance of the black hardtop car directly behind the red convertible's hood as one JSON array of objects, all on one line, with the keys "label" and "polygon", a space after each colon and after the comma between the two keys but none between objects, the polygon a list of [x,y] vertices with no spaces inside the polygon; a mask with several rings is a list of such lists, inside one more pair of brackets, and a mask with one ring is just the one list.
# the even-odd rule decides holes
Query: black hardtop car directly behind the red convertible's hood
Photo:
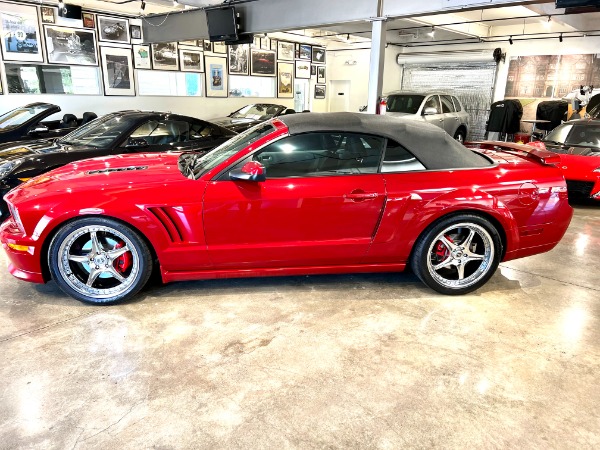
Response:
[{"label": "black hardtop car directly behind the red convertible's hood", "polygon": [[[204,120],[161,112],[107,114],[54,141],[0,145],[0,199],[12,188],[73,161],[122,153],[208,151],[235,132]],[[8,217],[0,200],[0,222]]]}]

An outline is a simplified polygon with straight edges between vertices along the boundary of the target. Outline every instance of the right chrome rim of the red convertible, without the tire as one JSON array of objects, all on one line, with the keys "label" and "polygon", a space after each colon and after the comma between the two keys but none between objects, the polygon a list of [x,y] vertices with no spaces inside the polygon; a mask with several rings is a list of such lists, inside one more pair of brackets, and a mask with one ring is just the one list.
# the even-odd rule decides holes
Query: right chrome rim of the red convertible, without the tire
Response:
[{"label": "right chrome rim of the red convertible, without the tire", "polygon": [[445,288],[472,286],[493,267],[494,241],[481,225],[467,222],[452,224],[430,242],[427,270]]}]

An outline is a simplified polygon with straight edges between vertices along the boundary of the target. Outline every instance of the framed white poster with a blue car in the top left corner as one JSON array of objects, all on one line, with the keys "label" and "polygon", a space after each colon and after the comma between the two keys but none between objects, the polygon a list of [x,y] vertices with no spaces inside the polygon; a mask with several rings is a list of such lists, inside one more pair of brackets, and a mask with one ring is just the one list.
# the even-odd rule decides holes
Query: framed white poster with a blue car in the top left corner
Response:
[{"label": "framed white poster with a blue car in the top left corner", "polygon": [[44,61],[35,6],[3,3],[0,37],[4,61]]}]

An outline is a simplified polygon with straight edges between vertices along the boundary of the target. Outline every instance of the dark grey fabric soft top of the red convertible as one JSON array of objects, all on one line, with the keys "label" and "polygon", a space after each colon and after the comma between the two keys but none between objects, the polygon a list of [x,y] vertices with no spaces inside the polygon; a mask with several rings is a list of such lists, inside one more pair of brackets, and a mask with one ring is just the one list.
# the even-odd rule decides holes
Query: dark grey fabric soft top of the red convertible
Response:
[{"label": "dark grey fabric soft top of the red convertible", "polygon": [[403,145],[430,170],[486,167],[490,162],[441,128],[418,120],[360,113],[301,113],[280,116],[290,134],[342,131],[384,136]]}]

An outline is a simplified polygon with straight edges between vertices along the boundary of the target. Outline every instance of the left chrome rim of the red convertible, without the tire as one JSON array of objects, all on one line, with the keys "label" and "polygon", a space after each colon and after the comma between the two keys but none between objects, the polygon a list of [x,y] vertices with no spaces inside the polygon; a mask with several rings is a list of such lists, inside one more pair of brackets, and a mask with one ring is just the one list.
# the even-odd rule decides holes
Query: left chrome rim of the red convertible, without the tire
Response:
[{"label": "left chrome rim of the red convertible, without the tire", "polygon": [[122,232],[103,225],[71,231],[58,248],[58,273],[74,291],[97,300],[128,292],[138,278],[140,255]]}]

